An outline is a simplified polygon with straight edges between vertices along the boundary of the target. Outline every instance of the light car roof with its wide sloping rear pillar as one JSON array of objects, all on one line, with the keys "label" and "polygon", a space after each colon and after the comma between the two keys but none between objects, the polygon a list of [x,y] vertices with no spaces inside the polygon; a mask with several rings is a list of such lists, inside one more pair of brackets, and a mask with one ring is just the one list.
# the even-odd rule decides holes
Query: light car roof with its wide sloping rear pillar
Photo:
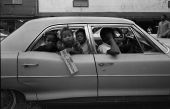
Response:
[{"label": "light car roof with its wide sloping rear pillar", "polygon": [[133,21],[114,17],[46,17],[26,22],[1,42],[2,51],[25,51],[35,38],[47,27],[57,24],[134,24]]}]

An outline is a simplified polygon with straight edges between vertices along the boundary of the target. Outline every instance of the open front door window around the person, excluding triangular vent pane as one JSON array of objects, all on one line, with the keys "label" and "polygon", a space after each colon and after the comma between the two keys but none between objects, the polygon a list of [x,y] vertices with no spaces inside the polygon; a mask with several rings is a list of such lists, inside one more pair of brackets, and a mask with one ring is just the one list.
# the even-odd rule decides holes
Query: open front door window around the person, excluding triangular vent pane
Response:
[{"label": "open front door window around the person, excluding triangular vent pane", "polygon": [[[103,28],[111,28],[114,34],[114,40],[120,49],[121,53],[142,53],[142,48],[138,43],[135,34],[129,26],[92,26],[93,39],[97,53],[102,49],[109,49],[109,44],[105,43],[101,38],[101,31]],[[104,50],[105,51],[105,50]]]}]

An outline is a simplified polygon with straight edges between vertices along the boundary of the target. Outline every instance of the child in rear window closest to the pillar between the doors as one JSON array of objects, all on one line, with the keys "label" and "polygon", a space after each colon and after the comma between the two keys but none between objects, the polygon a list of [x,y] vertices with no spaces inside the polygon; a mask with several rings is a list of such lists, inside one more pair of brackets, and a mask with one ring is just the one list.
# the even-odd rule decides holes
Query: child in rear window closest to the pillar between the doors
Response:
[{"label": "child in rear window closest to the pillar between the doors", "polygon": [[76,40],[80,43],[80,46],[83,50],[83,54],[88,54],[89,49],[84,29],[79,29],[76,31]]}]

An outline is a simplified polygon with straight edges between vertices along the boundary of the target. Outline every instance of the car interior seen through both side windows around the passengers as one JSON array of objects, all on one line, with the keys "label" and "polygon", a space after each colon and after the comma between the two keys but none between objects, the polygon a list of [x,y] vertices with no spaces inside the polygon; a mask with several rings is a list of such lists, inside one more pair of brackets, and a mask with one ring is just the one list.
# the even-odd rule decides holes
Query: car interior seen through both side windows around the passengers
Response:
[{"label": "car interior seen through both side windows around the passengers", "polygon": [[[103,44],[103,41],[100,37],[100,31],[103,27],[106,26],[94,26],[92,27],[92,33],[93,33],[93,39],[95,42],[95,47],[96,47],[96,51],[98,52],[98,47]],[[74,39],[76,37],[75,32],[83,27],[69,27],[72,31],[73,31],[73,36]],[[113,26],[113,27],[109,27],[112,28],[113,33],[115,35],[114,40],[116,41],[121,53],[145,53],[145,52],[158,52],[159,50],[155,47],[153,47],[153,44],[151,44],[147,39],[144,38],[144,36],[142,36],[141,33],[135,31],[134,29],[132,29],[131,27],[119,27],[119,26]],[[47,32],[53,32],[54,34],[56,34],[56,36],[58,38],[60,38],[60,30],[62,28],[61,27],[55,27],[55,28],[51,28],[47,31],[45,31],[41,37],[39,38],[39,40],[36,41],[36,43],[34,44],[34,46],[32,47],[32,51],[35,51],[36,48],[38,48],[39,46],[42,46],[45,42],[45,36]],[[75,39],[76,40],[76,39]],[[88,44],[88,46],[90,47],[90,45]],[[88,48],[89,48],[88,47]]]}]

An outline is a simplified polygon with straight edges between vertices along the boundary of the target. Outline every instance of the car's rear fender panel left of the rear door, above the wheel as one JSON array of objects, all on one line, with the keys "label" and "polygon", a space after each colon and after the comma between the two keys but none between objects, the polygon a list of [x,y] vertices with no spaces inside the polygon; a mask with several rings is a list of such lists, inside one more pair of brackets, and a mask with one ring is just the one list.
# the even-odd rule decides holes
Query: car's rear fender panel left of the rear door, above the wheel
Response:
[{"label": "car's rear fender panel left of the rear door, above the wheel", "polygon": [[36,100],[35,91],[18,81],[17,55],[17,52],[1,52],[1,90],[19,91],[27,99]]}]

